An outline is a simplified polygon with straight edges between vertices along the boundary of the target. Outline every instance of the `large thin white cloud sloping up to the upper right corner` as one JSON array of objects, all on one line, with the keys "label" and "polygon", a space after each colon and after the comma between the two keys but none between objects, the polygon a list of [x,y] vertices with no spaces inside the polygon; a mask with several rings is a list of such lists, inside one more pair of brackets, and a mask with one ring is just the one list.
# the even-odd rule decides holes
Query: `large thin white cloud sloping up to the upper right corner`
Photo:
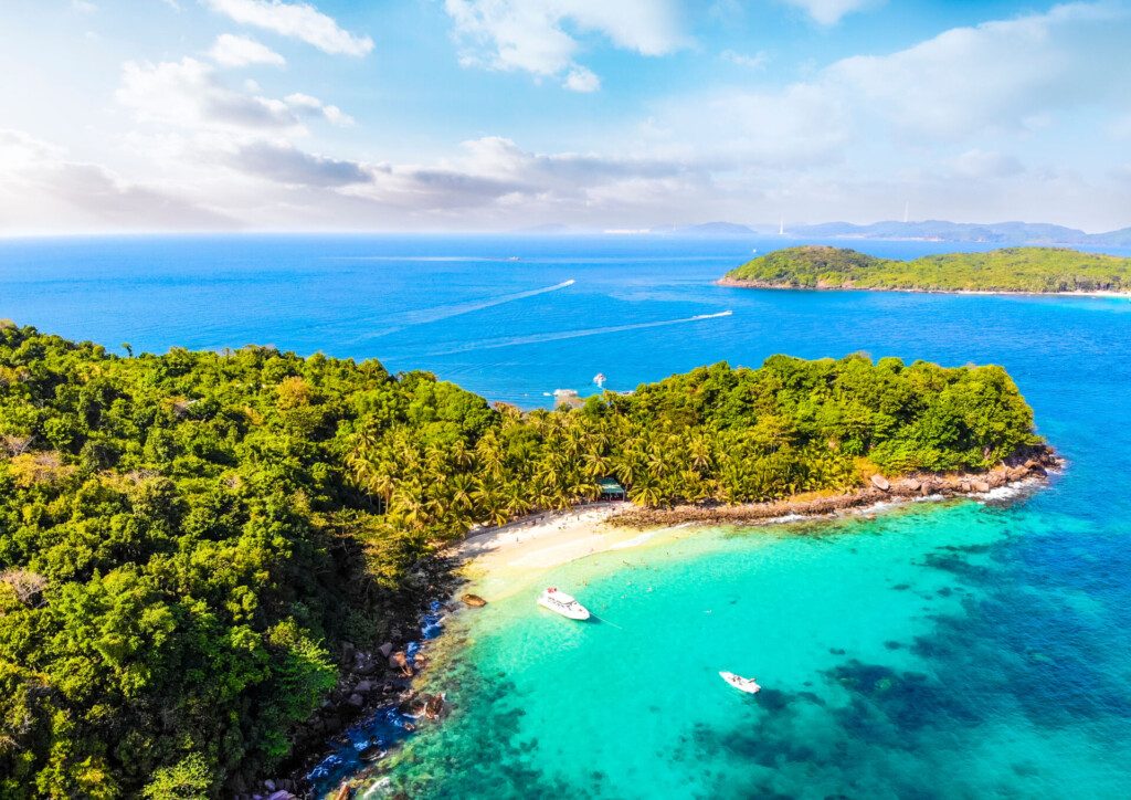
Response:
[{"label": "large thin white cloud sloping up to the upper right corner", "polygon": [[[946,31],[888,55],[841,59],[779,89],[677,97],[651,127],[688,150],[746,164],[882,156],[890,165],[901,149],[922,154],[987,135],[1028,136],[1088,104],[1117,110],[1128,103],[1125,87],[1110,76],[1125,71],[1129,36],[1126,6],[1059,6]],[[713,124],[702,126],[705,119]],[[1107,130],[1117,136],[1121,126]],[[1019,164],[970,152],[951,166],[988,175]]]}]

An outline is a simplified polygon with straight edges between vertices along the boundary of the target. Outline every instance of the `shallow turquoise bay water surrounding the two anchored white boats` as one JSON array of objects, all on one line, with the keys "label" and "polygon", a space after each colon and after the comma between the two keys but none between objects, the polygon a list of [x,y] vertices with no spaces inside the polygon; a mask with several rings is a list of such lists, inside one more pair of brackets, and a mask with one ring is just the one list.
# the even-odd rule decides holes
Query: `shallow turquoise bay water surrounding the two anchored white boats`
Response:
[{"label": "shallow turquoise bay water surrounding the two anchored white boats", "polygon": [[[1022,510],[1038,502],[702,531],[555,569],[546,582],[605,622],[536,611],[537,586],[463,614],[469,644],[432,678],[454,715],[408,746],[394,785],[450,798],[1125,797],[1131,643],[1081,587],[1051,590],[1008,564],[1046,535],[1048,521]],[[734,691],[719,669],[762,691]]]}]

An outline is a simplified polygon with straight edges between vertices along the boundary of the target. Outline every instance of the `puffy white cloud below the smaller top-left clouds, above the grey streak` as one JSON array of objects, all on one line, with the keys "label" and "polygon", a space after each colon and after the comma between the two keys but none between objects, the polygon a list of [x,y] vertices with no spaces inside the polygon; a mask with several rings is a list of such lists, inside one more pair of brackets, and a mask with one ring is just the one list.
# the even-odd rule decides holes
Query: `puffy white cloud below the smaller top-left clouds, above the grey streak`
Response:
[{"label": "puffy white cloud below the smaller top-left clouds, above the grey streak", "polygon": [[209,64],[192,58],[161,63],[128,61],[122,66],[118,102],[143,122],[188,129],[299,129],[305,119],[334,124],[352,120],[317,97],[292,94],[284,100],[238,92],[225,86]]}]

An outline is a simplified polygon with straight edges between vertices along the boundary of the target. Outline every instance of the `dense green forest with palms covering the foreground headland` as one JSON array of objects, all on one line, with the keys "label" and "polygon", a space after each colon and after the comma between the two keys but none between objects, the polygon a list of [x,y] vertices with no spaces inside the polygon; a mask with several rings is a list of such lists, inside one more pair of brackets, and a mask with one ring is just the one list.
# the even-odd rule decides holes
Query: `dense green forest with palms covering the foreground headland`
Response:
[{"label": "dense green forest with palms covering the foreground headland", "polygon": [[0,324],[0,797],[215,797],[262,775],[476,524],[979,470],[1038,441],[1000,367],[703,367],[523,412],[270,347],[115,355]]}]

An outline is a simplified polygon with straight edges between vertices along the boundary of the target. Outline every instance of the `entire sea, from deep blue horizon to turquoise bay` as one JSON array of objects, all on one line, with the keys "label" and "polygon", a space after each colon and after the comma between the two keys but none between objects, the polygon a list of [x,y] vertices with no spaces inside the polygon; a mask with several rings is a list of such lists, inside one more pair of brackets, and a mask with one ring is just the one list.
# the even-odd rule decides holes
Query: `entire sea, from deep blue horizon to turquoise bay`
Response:
[{"label": "entire sea, from deep blue horizon to turquoise bay", "polygon": [[[378,358],[527,407],[595,390],[597,372],[629,389],[774,353],[1003,364],[1069,459],[1048,489],[561,567],[546,579],[615,626],[536,613],[535,585],[449,620],[448,669],[429,680],[452,715],[368,791],[1131,797],[1131,300],[713,285],[783,243],[10,240],[0,317],[111,349]],[[739,696],[720,669],[766,688]]]}]

